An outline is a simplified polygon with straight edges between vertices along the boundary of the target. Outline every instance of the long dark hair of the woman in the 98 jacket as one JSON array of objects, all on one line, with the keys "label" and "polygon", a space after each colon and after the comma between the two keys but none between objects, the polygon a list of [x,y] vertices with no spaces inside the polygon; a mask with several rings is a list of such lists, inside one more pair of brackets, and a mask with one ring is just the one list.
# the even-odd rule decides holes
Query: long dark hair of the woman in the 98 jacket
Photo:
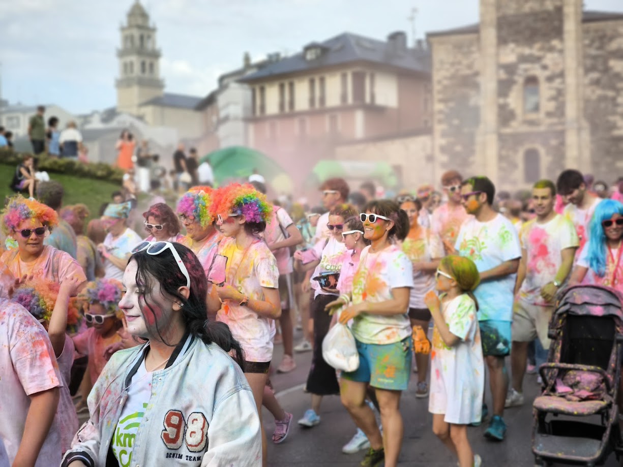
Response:
[{"label": "long dark hair of the woman in the 98 jacket", "polygon": [[[178,252],[179,257],[182,258],[191,278],[190,295],[188,298],[184,298],[178,292],[179,287],[186,285],[186,278],[179,270],[173,254],[168,249],[159,255],[149,255],[145,251],[132,255],[130,261],[136,262],[137,269],[136,284],[145,286],[145,290],[152,290],[153,283],[157,281],[165,296],[171,296],[173,300],[182,304],[181,313],[187,331],[199,337],[206,344],[214,342],[226,352],[233,351],[232,357],[239,364],[240,368],[244,370],[242,347],[240,342],[234,339],[229,326],[219,321],[209,321],[207,319],[207,279],[199,258],[189,248],[184,247],[180,243],[173,243],[173,247]],[[150,309],[155,316],[155,312],[146,298],[147,294],[143,296],[145,308]],[[164,342],[157,320],[156,331],[159,338]],[[174,344],[164,342],[164,344],[174,346],[177,345],[177,342]]]}]

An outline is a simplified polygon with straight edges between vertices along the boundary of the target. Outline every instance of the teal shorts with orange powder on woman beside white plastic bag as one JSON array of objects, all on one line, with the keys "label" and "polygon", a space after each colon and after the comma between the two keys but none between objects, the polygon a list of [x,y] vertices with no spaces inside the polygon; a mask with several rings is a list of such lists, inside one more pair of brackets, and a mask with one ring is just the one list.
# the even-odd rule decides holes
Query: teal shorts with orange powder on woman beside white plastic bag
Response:
[{"label": "teal shorts with orange powder on woman beside white plastic bag", "polygon": [[369,383],[378,389],[404,391],[411,376],[411,336],[392,344],[364,344],[355,339],[359,368],[342,372],[349,381]]}]

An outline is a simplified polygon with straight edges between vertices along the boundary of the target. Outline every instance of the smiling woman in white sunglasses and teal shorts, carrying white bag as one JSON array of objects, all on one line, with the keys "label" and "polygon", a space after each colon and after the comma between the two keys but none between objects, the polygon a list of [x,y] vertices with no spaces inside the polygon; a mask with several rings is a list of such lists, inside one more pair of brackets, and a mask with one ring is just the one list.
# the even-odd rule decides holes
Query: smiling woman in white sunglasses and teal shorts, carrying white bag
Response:
[{"label": "smiling woman in white sunglasses and teal shorts, carrying white bag", "polygon": [[[413,286],[413,268],[396,245],[407,234],[407,214],[391,200],[369,202],[361,213],[364,248],[353,279],[350,305],[340,323],[351,327],[359,351],[359,368],[343,372],[340,395],[358,428],[366,434],[370,450],[365,465],[396,467],[404,428],[399,411],[402,391],[411,374],[411,323],[407,310]],[[383,436],[374,412],[365,403],[373,387],[381,412]],[[363,464],[362,464],[363,465]]]}]

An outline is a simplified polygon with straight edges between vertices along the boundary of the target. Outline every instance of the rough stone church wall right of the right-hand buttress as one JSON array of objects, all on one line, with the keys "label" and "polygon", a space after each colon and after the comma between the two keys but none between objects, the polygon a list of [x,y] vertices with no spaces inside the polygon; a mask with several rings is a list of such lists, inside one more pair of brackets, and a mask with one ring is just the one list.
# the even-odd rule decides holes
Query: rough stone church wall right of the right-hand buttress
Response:
[{"label": "rough stone church wall right of the right-hand buttress", "polygon": [[592,172],[611,184],[623,175],[623,21],[587,23],[583,29]]}]

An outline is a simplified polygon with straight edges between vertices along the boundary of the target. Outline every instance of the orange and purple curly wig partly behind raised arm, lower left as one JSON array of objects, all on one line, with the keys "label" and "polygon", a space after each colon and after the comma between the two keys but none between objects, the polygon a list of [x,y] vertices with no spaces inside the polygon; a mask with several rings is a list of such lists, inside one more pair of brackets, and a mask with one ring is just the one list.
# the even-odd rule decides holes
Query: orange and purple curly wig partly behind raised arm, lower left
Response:
[{"label": "orange and purple curly wig partly behind raised arm, lower left", "polygon": [[[60,284],[47,280],[32,280],[20,285],[13,293],[11,301],[21,304],[39,321],[49,323],[54,304],[59,295]],[[78,313],[75,300],[67,307],[67,331],[75,333],[82,316]]]}]

